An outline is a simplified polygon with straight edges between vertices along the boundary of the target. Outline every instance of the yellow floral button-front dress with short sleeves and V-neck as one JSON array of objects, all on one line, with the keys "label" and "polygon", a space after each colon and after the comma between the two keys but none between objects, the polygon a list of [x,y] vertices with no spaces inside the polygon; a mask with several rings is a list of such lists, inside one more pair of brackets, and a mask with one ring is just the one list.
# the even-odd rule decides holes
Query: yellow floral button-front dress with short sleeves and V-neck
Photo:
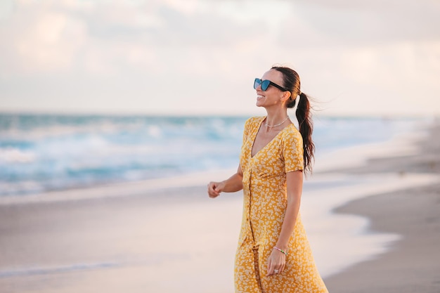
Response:
[{"label": "yellow floral button-front dress with short sleeves and V-neck", "polygon": [[235,292],[328,292],[316,269],[301,218],[289,240],[283,273],[267,275],[267,260],[280,235],[287,207],[286,173],[304,169],[302,136],[285,127],[254,157],[252,145],[265,117],[247,120],[240,165],[243,171],[243,216],[235,255]]}]

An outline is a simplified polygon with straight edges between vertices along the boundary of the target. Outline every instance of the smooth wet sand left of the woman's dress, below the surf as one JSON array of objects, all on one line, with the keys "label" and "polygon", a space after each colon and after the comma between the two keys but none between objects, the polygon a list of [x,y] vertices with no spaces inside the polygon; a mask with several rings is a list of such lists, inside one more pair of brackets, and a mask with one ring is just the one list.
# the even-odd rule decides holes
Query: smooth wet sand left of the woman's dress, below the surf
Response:
[{"label": "smooth wet sand left of the woman's dress, below the surf", "polygon": [[0,292],[233,292],[240,212],[205,186],[3,204]]}]

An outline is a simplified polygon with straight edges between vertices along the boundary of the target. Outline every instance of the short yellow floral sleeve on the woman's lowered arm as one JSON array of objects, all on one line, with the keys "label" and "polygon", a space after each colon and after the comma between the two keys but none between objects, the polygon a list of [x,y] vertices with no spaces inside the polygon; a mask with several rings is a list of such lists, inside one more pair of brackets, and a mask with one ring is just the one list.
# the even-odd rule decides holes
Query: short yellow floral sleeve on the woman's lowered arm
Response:
[{"label": "short yellow floral sleeve on the woman's lowered arm", "polygon": [[285,172],[304,169],[302,136],[296,128],[286,131],[283,136],[283,158]]}]

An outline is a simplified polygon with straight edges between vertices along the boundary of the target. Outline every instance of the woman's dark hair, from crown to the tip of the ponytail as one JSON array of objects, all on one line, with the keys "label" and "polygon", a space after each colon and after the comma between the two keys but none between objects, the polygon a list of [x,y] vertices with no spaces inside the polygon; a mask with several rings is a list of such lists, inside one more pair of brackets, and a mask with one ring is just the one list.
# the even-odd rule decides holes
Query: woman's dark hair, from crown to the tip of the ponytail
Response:
[{"label": "woman's dark hair, from crown to the tip of the ponytail", "polygon": [[304,170],[311,172],[311,163],[313,162],[315,144],[311,139],[313,122],[311,119],[309,98],[305,93],[301,92],[301,82],[299,80],[299,75],[295,70],[283,66],[273,66],[271,69],[283,74],[283,86],[285,89],[290,91],[290,101],[287,103],[287,108],[294,108],[295,104],[297,103],[297,96],[299,96],[297,119],[299,124],[299,133],[302,135],[302,146],[304,149]]}]

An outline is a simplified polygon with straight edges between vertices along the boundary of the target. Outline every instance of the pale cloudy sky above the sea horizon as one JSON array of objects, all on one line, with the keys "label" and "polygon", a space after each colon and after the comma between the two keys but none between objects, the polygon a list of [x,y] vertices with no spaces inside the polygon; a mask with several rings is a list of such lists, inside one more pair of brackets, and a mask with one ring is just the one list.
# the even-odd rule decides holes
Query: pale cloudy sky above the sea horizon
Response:
[{"label": "pale cloudy sky above the sea horizon", "polygon": [[264,114],[297,70],[323,115],[440,115],[438,0],[1,0],[0,111]]}]

